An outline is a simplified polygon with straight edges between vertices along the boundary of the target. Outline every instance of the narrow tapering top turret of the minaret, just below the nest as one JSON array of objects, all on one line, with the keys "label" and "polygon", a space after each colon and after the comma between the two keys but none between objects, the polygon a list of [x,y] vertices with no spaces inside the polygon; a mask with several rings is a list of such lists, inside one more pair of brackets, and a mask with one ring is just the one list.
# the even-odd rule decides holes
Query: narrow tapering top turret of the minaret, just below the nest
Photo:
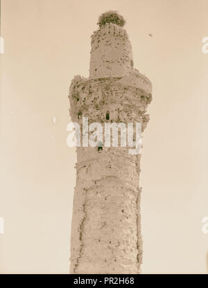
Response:
[{"label": "narrow tapering top turret of the minaret, just below the nest", "polygon": [[91,40],[89,77],[113,77],[133,69],[132,46],[122,27],[108,23]]}]

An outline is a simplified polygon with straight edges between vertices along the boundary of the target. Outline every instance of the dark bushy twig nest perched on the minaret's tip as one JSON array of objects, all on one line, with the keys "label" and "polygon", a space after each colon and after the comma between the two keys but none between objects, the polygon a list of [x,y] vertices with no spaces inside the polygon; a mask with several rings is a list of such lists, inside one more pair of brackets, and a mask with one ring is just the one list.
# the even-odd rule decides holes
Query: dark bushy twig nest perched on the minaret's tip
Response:
[{"label": "dark bushy twig nest perched on the minaret's tip", "polygon": [[107,11],[103,13],[98,19],[98,25],[100,27],[105,26],[106,23],[114,23],[123,27],[125,20],[123,19],[123,16],[119,15],[117,11]]}]

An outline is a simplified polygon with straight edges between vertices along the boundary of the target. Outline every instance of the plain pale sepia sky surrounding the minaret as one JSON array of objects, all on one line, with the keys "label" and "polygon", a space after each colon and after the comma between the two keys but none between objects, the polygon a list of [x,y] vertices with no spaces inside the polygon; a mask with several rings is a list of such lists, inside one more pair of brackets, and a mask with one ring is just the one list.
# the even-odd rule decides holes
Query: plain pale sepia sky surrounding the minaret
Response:
[{"label": "plain pale sepia sky surrounding the minaret", "polygon": [[[207,0],[1,0],[0,273],[68,273],[76,153],[68,91],[98,16],[126,19],[153,83],[143,137],[143,273],[206,273]],[[153,33],[153,37],[148,34]],[[54,119],[55,117],[55,119]]]}]

